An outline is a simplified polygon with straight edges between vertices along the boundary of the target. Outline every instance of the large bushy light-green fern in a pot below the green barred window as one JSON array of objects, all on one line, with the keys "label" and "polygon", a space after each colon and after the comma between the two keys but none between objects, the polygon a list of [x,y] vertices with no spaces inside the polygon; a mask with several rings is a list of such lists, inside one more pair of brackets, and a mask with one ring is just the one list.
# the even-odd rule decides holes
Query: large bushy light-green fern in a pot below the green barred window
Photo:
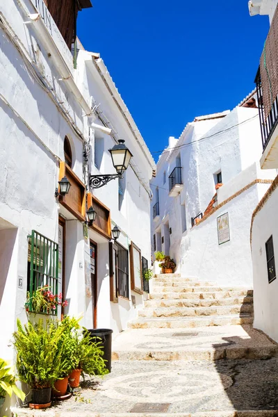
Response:
[{"label": "large bushy light-green fern in a pot below the green barred window", "polygon": [[17,332],[13,334],[17,351],[19,379],[28,384],[32,400],[29,407],[43,409],[51,405],[51,388],[66,370],[67,359],[58,350],[62,327],[47,320],[35,325],[22,325],[17,320]]}]

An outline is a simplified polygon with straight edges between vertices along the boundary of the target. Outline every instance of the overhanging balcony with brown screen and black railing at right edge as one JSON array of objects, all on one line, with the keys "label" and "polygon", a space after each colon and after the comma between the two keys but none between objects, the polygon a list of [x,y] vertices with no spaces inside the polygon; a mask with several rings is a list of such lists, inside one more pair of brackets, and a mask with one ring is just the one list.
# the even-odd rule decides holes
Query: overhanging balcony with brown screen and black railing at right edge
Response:
[{"label": "overhanging balcony with brown screen and black railing at right edge", "polygon": [[261,167],[278,168],[278,8],[265,41],[260,67],[256,74],[263,156]]}]

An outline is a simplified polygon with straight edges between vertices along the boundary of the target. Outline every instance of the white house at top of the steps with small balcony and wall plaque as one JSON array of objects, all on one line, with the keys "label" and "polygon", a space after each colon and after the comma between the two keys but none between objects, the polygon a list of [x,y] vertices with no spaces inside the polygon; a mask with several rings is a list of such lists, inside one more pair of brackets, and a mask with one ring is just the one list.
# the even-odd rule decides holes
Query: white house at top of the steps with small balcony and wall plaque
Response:
[{"label": "white house at top of the steps with small balcony and wall plaque", "polygon": [[152,180],[152,249],[188,277],[252,288],[250,224],[275,171],[262,171],[254,92],[170,138]]}]

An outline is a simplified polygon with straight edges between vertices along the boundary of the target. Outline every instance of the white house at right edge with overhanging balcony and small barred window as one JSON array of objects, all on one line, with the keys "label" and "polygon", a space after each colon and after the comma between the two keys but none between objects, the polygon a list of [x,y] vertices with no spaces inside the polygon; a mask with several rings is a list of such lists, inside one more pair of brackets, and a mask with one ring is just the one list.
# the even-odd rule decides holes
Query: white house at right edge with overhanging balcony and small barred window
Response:
[{"label": "white house at right edge with overhanging balcony and small barred window", "polygon": [[[252,1],[254,3],[255,2]],[[260,97],[263,154],[261,167],[278,169],[277,89],[277,0],[261,0],[250,14],[269,15],[270,31],[261,54],[256,76]],[[275,41],[275,42],[273,42]],[[275,49],[276,48],[276,49]],[[278,259],[278,177],[256,207],[252,217],[251,242],[254,271],[254,327],[278,341],[277,259]]]}]

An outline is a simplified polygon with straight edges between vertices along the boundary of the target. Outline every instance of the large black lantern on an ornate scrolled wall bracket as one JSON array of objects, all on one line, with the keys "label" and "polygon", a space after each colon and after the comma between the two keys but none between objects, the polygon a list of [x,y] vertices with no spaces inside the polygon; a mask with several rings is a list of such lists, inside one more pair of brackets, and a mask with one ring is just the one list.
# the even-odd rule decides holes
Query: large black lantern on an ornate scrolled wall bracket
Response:
[{"label": "large black lantern on an ornate scrolled wall bracket", "polygon": [[92,188],[100,188],[105,186],[111,179],[122,178],[124,171],[129,167],[129,162],[133,155],[124,145],[124,140],[120,139],[117,145],[109,149],[109,152],[111,153],[112,163],[117,174],[91,175],[90,186]]}]

